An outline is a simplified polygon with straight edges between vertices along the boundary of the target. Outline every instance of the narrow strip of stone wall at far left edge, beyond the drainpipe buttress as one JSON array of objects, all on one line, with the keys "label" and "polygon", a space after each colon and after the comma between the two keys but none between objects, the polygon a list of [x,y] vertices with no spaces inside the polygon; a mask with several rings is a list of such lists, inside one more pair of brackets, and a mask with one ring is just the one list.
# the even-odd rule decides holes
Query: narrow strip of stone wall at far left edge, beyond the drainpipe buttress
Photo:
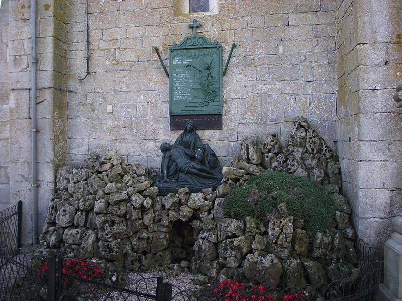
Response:
[{"label": "narrow strip of stone wall at far left edge, beyond the drainpipe buttress", "polygon": [[10,206],[9,3],[0,7],[0,210]]}]

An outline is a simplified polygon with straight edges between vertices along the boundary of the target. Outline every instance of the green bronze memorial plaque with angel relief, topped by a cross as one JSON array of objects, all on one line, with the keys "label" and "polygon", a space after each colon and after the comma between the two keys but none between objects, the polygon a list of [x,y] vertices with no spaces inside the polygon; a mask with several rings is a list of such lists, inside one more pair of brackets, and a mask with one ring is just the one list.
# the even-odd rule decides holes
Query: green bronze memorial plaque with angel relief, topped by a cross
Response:
[{"label": "green bronze memorial plaque with angel relief, topped by a cross", "polygon": [[189,25],[192,36],[169,48],[169,114],[222,114],[222,47]]}]

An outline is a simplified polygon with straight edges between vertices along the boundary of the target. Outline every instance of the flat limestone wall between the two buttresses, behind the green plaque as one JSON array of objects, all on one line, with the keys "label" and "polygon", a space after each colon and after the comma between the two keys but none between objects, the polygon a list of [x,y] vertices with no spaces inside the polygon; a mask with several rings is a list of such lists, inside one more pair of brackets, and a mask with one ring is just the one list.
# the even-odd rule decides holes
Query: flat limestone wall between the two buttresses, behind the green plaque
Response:
[{"label": "flat limestone wall between the two buttresses, behind the green plaque", "polygon": [[[184,1],[184,0],[183,0]],[[191,34],[223,44],[223,129],[198,131],[222,165],[239,155],[242,138],[277,133],[281,140],[302,115],[336,143],[335,2],[218,1],[217,13],[180,14],[181,0],[89,1],[88,77],[86,1],[67,7],[67,159],[83,162],[114,147],[123,160],[160,167],[169,129],[168,78],[153,46],[168,65],[168,47]],[[107,105],[113,112],[107,113]]]}]

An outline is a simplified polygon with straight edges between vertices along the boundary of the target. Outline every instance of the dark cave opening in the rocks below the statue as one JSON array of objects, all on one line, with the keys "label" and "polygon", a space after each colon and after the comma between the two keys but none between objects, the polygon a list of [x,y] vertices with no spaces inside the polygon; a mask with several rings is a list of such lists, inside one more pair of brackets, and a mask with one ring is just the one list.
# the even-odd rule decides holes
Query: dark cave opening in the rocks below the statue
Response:
[{"label": "dark cave opening in the rocks below the statue", "polygon": [[173,222],[169,241],[172,263],[180,263],[183,260],[191,262],[191,258],[195,254],[193,248],[196,238],[194,238],[194,230],[191,226],[192,220],[184,222],[178,219]]}]

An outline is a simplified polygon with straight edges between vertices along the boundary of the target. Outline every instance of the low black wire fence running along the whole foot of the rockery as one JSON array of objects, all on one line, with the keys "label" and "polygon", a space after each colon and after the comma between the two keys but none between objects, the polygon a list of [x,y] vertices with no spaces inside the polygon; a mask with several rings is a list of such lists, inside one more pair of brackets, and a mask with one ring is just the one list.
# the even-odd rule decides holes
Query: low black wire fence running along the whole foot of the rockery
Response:
[{"label": "low black wire fence running along the whole foot of the rockery", "polygon": [[[164,283],[162,277],[143,278],[136,272],[106,269],[97,262],[76,258],[35,258],[29,255],[9,257],[0,269],[0,300],[156,300],[222,301],[287,300],[372,301],[381,275],[381,260],[359,240],[356,250],[360,274],[331,283],[302,287],[181,291]],[[293,296],[293,297],[292,297]],[[262,298],[261,298],[262,297]]]}]

